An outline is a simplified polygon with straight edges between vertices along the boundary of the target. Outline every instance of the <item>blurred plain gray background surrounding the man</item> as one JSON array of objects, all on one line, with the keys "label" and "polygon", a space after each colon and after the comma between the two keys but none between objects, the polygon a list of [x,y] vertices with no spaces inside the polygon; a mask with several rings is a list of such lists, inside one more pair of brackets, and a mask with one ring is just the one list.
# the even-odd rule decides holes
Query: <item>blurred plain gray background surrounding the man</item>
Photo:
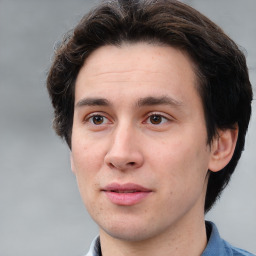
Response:
[{"label": "blurred plain gray background surrounding the man", "polygon": [[[186,1],[247,52],[256,95],[256,1]],[[97,227],[80,200],[69,151],[51,129],[45,89],[53,45],[94,1],[0,0],[0,256],[83,255]],[[256,253],[256,104],[246,151],[207,215]]]}]

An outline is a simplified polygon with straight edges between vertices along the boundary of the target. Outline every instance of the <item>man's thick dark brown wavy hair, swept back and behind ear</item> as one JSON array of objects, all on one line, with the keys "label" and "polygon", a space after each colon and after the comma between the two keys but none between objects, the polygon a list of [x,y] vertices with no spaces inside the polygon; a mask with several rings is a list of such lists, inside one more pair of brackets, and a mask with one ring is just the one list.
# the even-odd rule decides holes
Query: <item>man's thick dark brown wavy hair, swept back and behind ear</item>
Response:
[{"label": "man's thick dark brown wavy hair, swept back and behind ear", "polygon": [[230,162],[218,172],[209,170],[207,212],[228,184],[243,151],[252,89],[246,60],[238,46],[193,8],[172,0],[104,1],[84,16],[56,50],[48,75],[47,87],[55,110],[54,128],[72,150],[79,71],[102,46],[136,43],[171,46],[190,58],[204,110],[207,145],[212,145],[219,131],[239,131]]}]

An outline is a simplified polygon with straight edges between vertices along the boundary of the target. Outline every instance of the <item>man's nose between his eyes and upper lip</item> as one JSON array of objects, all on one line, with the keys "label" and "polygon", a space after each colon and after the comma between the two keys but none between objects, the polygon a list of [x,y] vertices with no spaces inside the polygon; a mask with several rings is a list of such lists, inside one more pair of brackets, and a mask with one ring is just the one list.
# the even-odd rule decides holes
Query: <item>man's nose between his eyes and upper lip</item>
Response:
[{"label": "man's nose between his eyes and upper lip", "polygon": [[144,158],[139,145],[140,141],[135,129],[127,125],[118,127],[112,134],[109,150],[105,155],[105,163],[111,169],[121,171],[141,167]]}]

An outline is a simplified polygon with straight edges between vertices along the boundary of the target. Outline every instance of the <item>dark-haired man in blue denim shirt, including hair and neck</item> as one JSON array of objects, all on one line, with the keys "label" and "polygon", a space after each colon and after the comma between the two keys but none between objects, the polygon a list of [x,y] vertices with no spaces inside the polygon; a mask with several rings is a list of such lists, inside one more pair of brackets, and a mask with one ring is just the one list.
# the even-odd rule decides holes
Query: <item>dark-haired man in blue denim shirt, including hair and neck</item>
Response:
[{"label": "dark-haired man in blue denim shirt, including hair and neck", "polygon": [[56,52],[54,127],[100,234],[94,255],[252,255],[204,221],[244,147],[244,55],[179,1],[105,1]]}]

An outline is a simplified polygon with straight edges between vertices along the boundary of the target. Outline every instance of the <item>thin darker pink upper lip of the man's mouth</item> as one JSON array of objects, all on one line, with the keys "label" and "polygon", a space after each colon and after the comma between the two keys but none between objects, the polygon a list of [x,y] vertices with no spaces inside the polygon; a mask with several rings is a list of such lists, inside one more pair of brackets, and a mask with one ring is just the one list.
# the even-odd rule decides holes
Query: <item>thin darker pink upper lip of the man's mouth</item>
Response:
[{"label": "thin darker pink upper lip of the man's mouth", "polygon": [[112,192],[151,192],[151,189],[145,188],[141,185],[135,183],[111,183],[105,186],[103,191],[112,191]]}]

